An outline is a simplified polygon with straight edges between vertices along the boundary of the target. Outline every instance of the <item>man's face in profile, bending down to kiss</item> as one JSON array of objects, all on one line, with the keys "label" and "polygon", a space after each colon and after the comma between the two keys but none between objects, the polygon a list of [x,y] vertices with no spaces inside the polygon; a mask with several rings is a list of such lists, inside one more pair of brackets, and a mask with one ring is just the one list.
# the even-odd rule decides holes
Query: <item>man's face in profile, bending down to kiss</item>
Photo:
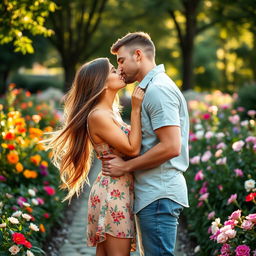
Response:
[{"label": "man's face in profile, bending down to kiss", "polygon": [[117,51],[117,63],[121,76],[124,78],[126,84],[137,81],[139,72],[139,65],[136,61],[136,56],[131,49],[122,46]]}]

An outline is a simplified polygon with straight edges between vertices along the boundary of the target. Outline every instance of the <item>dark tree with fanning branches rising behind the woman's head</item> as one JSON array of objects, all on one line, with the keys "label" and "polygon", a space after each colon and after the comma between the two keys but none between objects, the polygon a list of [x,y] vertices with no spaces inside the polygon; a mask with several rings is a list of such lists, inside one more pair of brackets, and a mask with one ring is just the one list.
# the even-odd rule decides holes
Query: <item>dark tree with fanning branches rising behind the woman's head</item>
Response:
[{"label": "dark tree with fanning branches rising behind the woman's head", "polygon": [[95,34],[107,0],[58,0],[59,9],[50,14],[55,32],[50,41],[58,50],[65,72],[65,91],[74,79],[76,66],[87,60],[102,45]]}]

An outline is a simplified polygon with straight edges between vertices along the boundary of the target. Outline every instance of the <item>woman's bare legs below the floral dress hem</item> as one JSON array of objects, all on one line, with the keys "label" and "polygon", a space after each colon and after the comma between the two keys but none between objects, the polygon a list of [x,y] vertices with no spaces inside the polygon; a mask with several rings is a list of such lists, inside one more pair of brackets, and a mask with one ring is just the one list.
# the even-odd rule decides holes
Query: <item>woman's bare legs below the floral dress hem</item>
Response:
[{"label": "woman's bare legs below the floral dress hem", "polygon": [[104,249],[107,256],[130,256],[131,238],[117,238],[107,234]]}]

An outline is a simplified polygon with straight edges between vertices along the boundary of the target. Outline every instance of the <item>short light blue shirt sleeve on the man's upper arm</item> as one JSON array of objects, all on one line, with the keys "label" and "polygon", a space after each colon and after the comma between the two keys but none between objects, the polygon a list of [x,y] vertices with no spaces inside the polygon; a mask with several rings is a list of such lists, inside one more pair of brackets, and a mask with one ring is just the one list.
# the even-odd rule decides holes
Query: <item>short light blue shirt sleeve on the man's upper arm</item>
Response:
[{"label": "short light blue shirt sleeve on the man's upper arm", "polygon": [[178,96],[169,88],[155,86],[148,91],[146,109],[153,130],[164,126],[180,126]]}]

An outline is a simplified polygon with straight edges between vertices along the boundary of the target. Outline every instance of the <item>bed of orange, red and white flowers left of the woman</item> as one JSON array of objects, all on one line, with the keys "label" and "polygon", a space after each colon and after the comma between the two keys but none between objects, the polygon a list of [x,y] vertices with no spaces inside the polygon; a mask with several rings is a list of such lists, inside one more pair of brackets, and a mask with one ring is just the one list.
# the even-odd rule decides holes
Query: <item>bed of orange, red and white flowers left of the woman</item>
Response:
[{"label": "bed of orange, red and white flowers left of the woman", "polygon": [[59,115],[29,92],[10,87],[0,104],[0,255],[42,255],[65,204],[58,172],[40,140]]}]

